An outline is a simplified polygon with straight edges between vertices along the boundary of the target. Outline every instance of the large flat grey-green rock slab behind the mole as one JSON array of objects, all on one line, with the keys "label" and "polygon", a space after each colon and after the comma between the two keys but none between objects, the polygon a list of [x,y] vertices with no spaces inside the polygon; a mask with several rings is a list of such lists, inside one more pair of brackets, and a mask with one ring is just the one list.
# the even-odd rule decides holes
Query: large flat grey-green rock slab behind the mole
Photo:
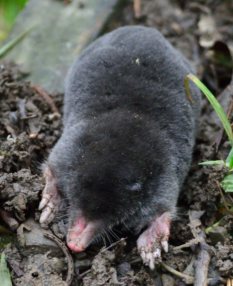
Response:
[{"label": "large flat grey-green rock slab behind the mole", "polygon": [[[35,28],[3,59],[30,71],[28,80],[48,92],[64,92],[64,80],[77,55],[92,42],[118,0],[30,0],[4,43]],[[4,44],[3,43],[3,44]]]}]

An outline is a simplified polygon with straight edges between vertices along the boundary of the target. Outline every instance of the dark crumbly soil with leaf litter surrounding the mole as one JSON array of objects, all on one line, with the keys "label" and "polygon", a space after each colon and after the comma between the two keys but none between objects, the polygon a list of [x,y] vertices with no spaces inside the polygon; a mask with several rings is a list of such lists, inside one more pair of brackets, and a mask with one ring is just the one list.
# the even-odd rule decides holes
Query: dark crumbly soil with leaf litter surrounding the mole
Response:
[{"label": "dark crumbly soil with leaf litter surrounding the mole", "polygon": [[[123,25],[159,29],[193,63],[200,80],[226,110],[233,67],[232,1],[141,0],[138,13],[136,18],[133,1],[122,1],[102,32]],[[226,140],[216,154],[220,121],[204,96],[169,252],[162,252],[152,271],[143,265],[137,237],[131,233],[116,230],[119,239],[112,237],[113,242],[127,238],[107,249],[99,243],[71,253],[62,221],[46,230],[40,227],[38,205],[44,186],[40,164],[62,132],[63,94],[48,95],[24,77],[14,63],[1,63],[0,251],[5,249],[13,285],[165,286],[193,283],[192,277],[196,285],[206,285],[205,271],[209,285],[226,284],[233,278],[233,217],[228,210],[233,198],[218,184],[229,172],[224,164],[198,165],[206,160],[225,161],[231,146]]]}]

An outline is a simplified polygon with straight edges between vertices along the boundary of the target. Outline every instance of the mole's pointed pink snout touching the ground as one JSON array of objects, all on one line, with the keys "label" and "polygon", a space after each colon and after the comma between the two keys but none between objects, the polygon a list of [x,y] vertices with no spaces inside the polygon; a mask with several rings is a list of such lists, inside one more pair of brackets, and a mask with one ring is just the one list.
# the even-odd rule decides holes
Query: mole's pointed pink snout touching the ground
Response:
[{"label": "mole's pointed pink snout touching the ground", "polygon": [[95,223],[86,224],[84,218],[77,220],[68,235],[68,247],[72,251],[84,251],[90,240],[95,236],[96,230],[97,227]]}]

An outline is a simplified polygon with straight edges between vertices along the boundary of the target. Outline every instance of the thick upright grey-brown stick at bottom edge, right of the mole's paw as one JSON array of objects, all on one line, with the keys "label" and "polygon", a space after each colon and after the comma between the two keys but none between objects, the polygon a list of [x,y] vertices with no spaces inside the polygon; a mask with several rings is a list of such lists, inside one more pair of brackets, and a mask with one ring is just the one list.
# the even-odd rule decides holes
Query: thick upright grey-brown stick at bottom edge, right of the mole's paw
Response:
[{"label": "thick upright grey-brown stick at bottom edge, right of the mole's paw", "polygon": [[198,236],[201,242],[199,244],[199,251],[196,257],[196,261],[193,263],[193,268],[195,270],[194,286],[207,286],[207,274],[210,263],[210,253],[212,254],[213,251],[205,241],[205,232],[201,231]]}]

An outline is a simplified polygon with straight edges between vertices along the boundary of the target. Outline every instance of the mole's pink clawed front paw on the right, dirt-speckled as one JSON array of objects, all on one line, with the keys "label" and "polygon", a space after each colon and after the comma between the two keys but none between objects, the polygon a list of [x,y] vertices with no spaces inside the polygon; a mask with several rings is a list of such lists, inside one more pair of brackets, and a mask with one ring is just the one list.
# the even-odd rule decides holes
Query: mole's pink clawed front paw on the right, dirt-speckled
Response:
[{"label": "mole's pink clawed front paw on the right, dirt-speckled", "polygon": [[165,212],[156,217],[148,228],[139,236],[137,249],[145,265],[155,268],[156,257],[161,256],[161,247],[168,251],[168,238],[170,235],[171,213]]}]

